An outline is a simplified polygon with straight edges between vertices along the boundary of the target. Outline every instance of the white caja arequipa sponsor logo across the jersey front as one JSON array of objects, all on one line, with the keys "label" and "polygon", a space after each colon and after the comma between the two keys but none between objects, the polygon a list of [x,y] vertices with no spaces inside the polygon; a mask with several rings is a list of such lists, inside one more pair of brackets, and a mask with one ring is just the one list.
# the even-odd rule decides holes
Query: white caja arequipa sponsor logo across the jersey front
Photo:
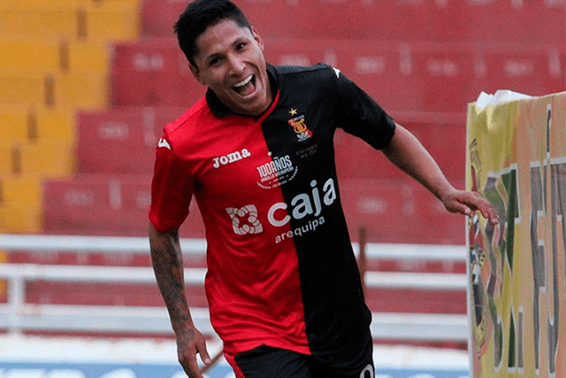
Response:
[{"label": "white caja arequipa sponsor logo across the jersey front", "polygon": [[275,243],[279,243],[286,238],[302,236],[324,225],[324,208],[333,204],[336,198],[336,188],[332,178],[322,185],[318,185],[318,182],[313,180],[310,181],[310,191],[296,195],[289,204],[285,202],[272,204],[266,214],[258,212],[255,204],[226,207],[226,212],[232,219],[232,228],[236,235],[264,232],[264,225],[260,219],[266,219],[269,225],[275,228],[284,227],[291,220],[302,220],[300,227],[277,235]]}]

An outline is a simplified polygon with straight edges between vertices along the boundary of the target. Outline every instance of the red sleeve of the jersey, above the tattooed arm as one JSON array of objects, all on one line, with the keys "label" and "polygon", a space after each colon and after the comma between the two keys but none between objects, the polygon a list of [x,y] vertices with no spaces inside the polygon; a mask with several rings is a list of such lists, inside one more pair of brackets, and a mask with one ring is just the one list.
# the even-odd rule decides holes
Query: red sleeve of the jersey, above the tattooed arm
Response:
[{"label": "red sleeve of the jersey, above the tattooed arm", "polygon": [[188,215],[193,197],[193,180],[183,160],[177,156],[172,142],[164,135],[158,143],[149,221],[159,232],[179,228]]}]

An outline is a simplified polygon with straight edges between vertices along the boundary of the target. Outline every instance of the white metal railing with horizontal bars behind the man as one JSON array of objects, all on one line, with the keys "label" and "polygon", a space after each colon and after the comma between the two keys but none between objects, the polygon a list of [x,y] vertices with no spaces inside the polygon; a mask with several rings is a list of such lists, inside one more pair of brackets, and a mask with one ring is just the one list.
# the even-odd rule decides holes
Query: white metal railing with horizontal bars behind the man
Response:
[{"label": "white metal railing with horizontal bars behind the man", "polygon": [[[203,240],[181,240],[184,253],[204,253]],[[355,245],[355,249],[357,246]],[[98,236],[0,235],[0,250],[74,251],[76,253],[148,253],[145,238]],[[357,251],[357,250],[356,250]],[[464,247],[367,244],[367,258],[403,258],[462,262]],[[204,268],[187,268],[187,285],[203,286]],[[39,305],[26,303],[27,282],[155,283],[151,267],[54,266],[0,264],[0,279],[8,282],[7,302],[0,304],[0,329],[11,332],[79,331],[172,334],[164,307],[118,305]],[[366,289],[465,290],[466,274],[371,272],[364,274]],[[208,309],[191,309],[195,325],[203,334],[215,336]],[[469,338],[468,317],[462,314],[373,312],[374,339],[456,341]]]}]

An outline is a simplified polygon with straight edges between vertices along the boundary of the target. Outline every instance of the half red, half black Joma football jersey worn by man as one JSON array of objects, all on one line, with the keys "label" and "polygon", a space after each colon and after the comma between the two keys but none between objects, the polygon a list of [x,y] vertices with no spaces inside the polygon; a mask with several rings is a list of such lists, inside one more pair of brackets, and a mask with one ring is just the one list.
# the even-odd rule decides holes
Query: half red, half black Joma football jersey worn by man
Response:
[{"label": "half red, half black Joma football jersey worn by man", "polygon": [[376,149],[394,121],[329,66],[268,66],[277,92],[258,118],[211,91],[166,125],[149,219],[178,228],[195,197],[206,229],[210,320],[235,355],[260,344],[357,358],[371,312],[340,205],[337,127]]}]

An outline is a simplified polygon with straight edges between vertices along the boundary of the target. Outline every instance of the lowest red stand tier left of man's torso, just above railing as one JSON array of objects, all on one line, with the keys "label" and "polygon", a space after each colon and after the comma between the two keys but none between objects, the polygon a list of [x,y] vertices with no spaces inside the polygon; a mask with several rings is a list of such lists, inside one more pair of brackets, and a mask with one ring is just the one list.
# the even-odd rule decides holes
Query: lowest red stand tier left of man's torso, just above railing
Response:
[{"label": "lowest red stand tier left of man's torso, just above railing", "polygon": [[[151,174],[79,174],[44,184],[44,232],[57,235],[145,236]],[[181,237],[204,237],[196,204]]]}]

